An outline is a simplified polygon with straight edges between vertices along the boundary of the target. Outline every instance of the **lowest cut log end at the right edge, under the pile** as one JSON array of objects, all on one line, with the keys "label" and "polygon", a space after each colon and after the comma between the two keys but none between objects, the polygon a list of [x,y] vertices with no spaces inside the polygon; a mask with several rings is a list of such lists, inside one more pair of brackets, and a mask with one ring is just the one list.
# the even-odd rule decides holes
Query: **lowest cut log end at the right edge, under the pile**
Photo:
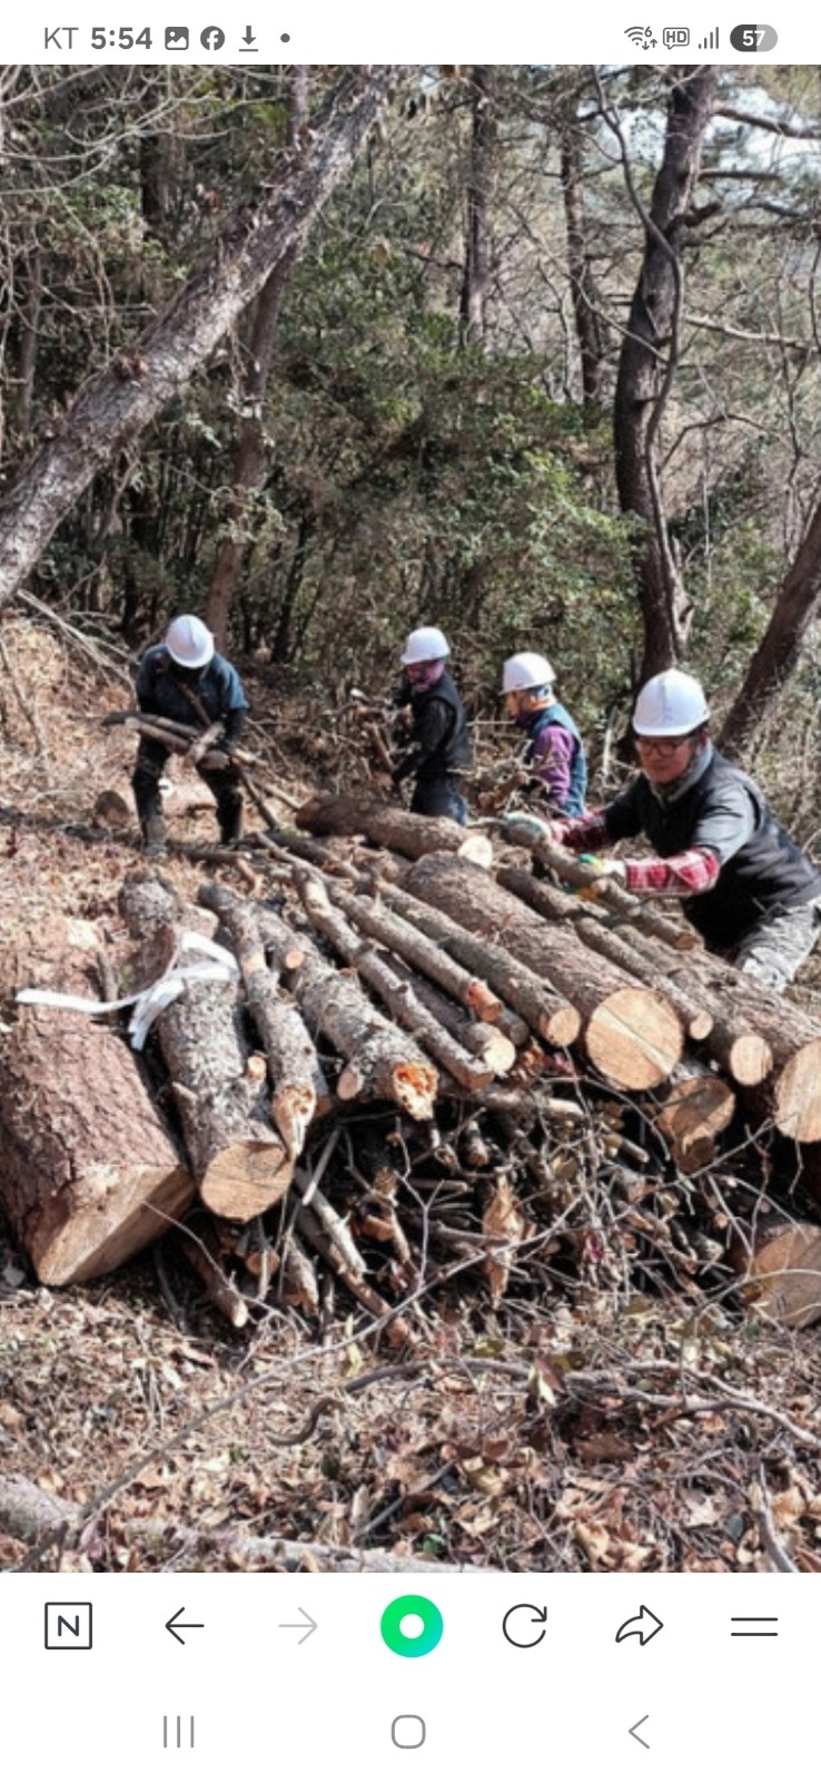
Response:
[{"label": "lowest cut log end at the right edge, under the pile", "polygon": [[787,1329],[807,1329],[821,1319],[821,1226],[771,1215],[730,1260],[739,1269],[741,1297]]}]

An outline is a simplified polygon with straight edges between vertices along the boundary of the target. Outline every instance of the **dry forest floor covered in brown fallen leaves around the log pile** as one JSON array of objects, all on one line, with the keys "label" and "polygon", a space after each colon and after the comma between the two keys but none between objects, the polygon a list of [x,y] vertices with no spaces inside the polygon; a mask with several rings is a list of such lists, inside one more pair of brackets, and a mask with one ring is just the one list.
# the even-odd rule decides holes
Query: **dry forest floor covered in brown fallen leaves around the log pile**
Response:
[{"label": "dry forest floor covered in brown fallen leaves around the log pile", "polygon": [[[98,793],[128,791],[134,741],[98,723],[130,702],[126,679],[23,618],[4,624],[2,658],[11,1023],[34,927],[80,918],[123,957],[118,891],[139,850],[135,830],[89,827]],[[290,795],[324,779],[301,722],[285,707],[253,736]],[[214,820],[178,834],[207,843]],[[196,896],[203,866],[162,870]],[[267,1304],[232,1331],[159,1251],[52,1290],[0,1230],[0,1475],[85,1520],[78,1547],[39,1557],[0,1533],[0,1566],[324,1570],[356,1549],[408,1570],[821,1570],[816,1329],[727,1292],[602,1285],[595,1263],[495,1310],[465,1272],[424,1310],[411,1358],[344,1294],[322,1329]]]}]

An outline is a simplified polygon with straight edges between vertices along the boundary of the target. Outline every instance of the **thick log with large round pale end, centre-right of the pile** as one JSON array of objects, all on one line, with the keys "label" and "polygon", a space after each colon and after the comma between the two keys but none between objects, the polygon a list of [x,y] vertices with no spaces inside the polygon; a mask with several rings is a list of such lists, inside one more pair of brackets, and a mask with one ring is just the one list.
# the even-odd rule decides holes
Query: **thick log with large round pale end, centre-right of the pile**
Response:
[{"label": "thick log with large round pale end, centre-right of the pile", "polygon": [[404,884],[474,934],[504,937],[515,959],[568,996],[584,1018],[588,1057],[607,1082],[654,1089],[675,1069],[682,1028],[670,1003],[606,959],[593,975],[573,934],[532,914],[490,873],[452,854],[431,854],[406,871]]}]

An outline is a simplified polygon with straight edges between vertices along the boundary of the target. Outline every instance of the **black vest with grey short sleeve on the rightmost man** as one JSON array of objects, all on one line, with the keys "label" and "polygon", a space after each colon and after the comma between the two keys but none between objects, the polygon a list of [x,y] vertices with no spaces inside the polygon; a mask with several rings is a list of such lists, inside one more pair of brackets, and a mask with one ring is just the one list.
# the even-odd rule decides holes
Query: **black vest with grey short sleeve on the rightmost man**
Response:
[{"label": "black vest with grey short sleeve on the rightmost man", "polygon": [[762,920],[821,898],[817,868],[775,820],[755,781],[718,750],[679,798],[659,797],[639,773],[602,818],[613,841],[643,834],[662,861],[686,848],[716,855],[712,889],[682,900],[714,950],[734,948]]}]

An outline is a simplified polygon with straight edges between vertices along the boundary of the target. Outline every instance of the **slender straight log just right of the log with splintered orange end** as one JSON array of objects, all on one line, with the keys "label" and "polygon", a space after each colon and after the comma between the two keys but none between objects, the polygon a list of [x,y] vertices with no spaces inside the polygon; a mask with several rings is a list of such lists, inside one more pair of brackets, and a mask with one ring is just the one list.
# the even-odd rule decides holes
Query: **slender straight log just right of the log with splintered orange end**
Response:
[{"label": "slender straight log just right of the log with splintered orange end", "polygon": [[[331,946],[356,968],[360,978],[381,996],[390,1014],[401,1026],[419,1034],[433,1057],[451,1073],[463,1089],[477,1092],[492,1082],[492,1073],[481,1066],[472,1053],[465,1051],[445,1028],[427,1012],[411,987],[390,969],[372,944],[351,928],[351,923],[333,909],[328,891],[317,873],[308,866],[294,868],[294,882],[315,928],[326,936]],[[345,1098],[345,1073],[340,1076],[338,1092]]]}]

